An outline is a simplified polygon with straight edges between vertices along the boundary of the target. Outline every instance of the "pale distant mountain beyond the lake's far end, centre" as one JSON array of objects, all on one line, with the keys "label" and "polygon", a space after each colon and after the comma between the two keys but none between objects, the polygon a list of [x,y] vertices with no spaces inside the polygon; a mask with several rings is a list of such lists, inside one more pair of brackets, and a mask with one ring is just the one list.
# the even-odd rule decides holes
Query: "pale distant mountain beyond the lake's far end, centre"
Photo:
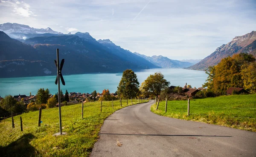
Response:
[{"label": "pale distant mountain beyond the lake's far end, centre", "polygon": [[192,63],[189,62],[180,62],[179,60],[171,60],[167,57],[163,56],[145,56],[144,54],[139,54],[137,52],[134,52],[134,54],[137,54],[140,57],[145,58],[146,60],[150,61],[153,63],[155,66],[159,66],[161,68],[186,68],[188,66],[193,65]]}]

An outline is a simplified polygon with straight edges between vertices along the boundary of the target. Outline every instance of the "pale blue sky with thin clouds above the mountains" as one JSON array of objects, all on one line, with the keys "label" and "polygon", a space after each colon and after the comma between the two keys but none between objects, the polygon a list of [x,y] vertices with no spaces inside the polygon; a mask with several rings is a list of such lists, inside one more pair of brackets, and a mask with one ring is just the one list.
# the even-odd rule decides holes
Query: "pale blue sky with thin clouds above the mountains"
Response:
[{"label": "pale blue sky with thin clouds above the mountains", "polygon": [[256,31],[256,0],[0,0],[0,24],[89,32],[147,56],[203,59]]}]

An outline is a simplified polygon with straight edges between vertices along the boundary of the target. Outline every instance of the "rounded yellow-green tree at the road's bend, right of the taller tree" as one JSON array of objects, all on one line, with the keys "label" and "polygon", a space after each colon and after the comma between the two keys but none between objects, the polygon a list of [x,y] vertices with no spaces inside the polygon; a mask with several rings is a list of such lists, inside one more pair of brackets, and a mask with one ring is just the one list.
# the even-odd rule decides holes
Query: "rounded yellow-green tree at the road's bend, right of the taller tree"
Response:
[{"label": "rounded yellow-green tree at the road's bend, right of the taller tree", "polygon": [[142,89],[150,95],[158,96],[160,92],[169,87],[170,82],[167,81],[163,74],[156,72],[153,75],[149,75],[144,81]]}]

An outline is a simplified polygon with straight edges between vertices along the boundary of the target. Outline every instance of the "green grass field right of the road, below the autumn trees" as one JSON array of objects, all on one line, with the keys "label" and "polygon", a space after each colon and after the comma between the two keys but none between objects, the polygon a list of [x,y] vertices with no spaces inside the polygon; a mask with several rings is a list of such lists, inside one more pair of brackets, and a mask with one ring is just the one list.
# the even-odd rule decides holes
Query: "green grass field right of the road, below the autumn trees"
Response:
[{"label": "green grass field right of the road, below the autumn trees", "polygon": [[151,111],[166,117],[193,120],[256,132],[256,94],[230,95],[190,100],[190,115],[187,116],[188,101],[165,101],[151,106]]}]

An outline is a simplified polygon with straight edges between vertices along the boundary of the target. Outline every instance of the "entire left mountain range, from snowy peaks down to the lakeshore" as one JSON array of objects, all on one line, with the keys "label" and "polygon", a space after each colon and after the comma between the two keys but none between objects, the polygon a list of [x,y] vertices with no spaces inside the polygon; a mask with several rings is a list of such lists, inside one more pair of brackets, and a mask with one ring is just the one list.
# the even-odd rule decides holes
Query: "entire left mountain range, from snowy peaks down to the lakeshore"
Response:
[{"label": "entire left mountain range, from snowy peaks down to the lakeshore", "polygon": [[63,34],[50,28],[35,29],[17,23],[0,24],[0,30],[8,34],[0,31],[0,77],[55,74],[56,49],[59,49],[60,57],[65,58],[63,74],[170,68],[157,66],[144,57],[116,46],[109,39],[97,41],[88,32]]}]

